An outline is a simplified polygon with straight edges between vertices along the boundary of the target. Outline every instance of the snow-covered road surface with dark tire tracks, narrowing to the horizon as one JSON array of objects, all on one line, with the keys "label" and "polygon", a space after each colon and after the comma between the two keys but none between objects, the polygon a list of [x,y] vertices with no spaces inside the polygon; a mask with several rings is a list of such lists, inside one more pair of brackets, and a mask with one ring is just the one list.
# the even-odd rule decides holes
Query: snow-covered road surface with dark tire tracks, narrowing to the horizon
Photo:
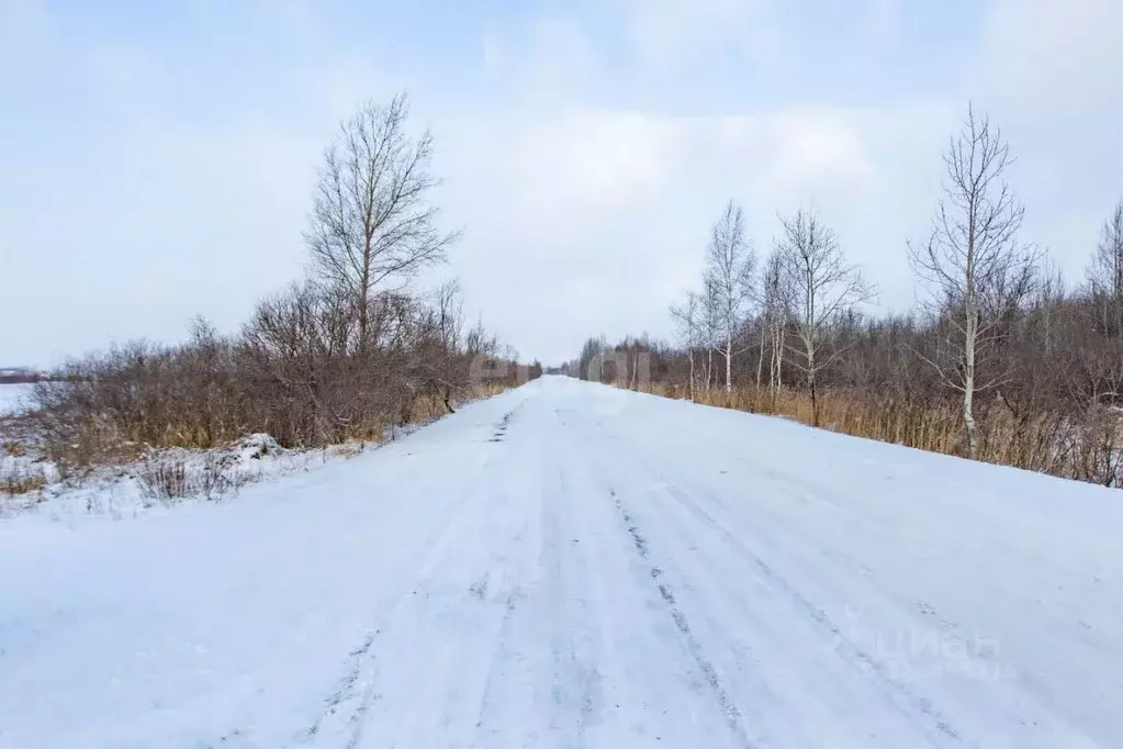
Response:
[{"label": "snow-covered road surface with dark tire tracks, narrowing to the horizon", "polygon": [[1121,497],[547,377],[0,521],[0,747],[1114,749]]}]

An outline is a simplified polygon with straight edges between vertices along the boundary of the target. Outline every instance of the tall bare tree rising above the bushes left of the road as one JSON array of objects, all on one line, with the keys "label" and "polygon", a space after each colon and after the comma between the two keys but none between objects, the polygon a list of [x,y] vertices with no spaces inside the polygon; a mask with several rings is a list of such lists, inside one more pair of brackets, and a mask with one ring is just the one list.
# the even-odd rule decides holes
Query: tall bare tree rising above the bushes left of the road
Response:
[{"label": "tall bare tree rising above the bushes left of the road", "polygon": [[316,274],[355,305],[358,341],[367,344],[369,303],[380,284],[444,262],[457,238],[428,203],[432,138],[405,130],[405,94],[368,101],[339,127],[323,154],[304,240]]}]

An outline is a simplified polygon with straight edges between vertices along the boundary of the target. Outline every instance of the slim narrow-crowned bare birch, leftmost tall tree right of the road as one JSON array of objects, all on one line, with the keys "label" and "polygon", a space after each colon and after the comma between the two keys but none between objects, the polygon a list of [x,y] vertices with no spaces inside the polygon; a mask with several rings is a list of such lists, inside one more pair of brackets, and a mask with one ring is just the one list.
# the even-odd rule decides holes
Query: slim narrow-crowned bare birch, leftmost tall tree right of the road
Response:
[{"label": "slim narrow-crowned bare birch, leftmost tall tree right of the road", "polygon": [[725,358],[727,393],[733,390],[733,357],[745,350],[737,346],[752,300],[756,256],[745,234],[745,213],[729,201],[713,227],[705,267],[706,289],[715,305],[718,338],[714,348]]}]

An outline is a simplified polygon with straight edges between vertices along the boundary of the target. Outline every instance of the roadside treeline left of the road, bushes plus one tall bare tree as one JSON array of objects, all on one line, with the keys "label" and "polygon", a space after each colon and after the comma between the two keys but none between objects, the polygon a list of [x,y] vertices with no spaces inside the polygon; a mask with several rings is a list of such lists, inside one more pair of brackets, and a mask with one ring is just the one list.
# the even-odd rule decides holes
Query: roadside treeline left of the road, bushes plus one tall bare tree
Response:
[{"label": "roadside treeline left of the road, bushes plus one tall bare tree", "polygon": [[176,346],[131,342],[69,362],[35,389],[51,457],[81,464],[139,446],[211,447],[268,432],[284,446],[380,439],[396,424],[540,374],[517,366],[456,282],[416,287],[457,235],[428,201],[432,140],[404,95],[367,103],[326,149],[309,274],[261,301],[235,335],[197,320]]}]

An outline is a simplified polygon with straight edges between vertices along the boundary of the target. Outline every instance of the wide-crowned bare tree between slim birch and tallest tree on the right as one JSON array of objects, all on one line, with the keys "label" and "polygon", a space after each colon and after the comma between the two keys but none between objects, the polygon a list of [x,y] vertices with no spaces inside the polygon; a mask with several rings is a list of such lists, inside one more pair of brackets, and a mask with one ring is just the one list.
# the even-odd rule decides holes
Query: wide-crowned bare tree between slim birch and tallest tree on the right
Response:
[{"label": "wide-crowned bare tree between slim birch and tallest tree on the right", "polygon": [[812,423],[819,426],[816,375],[839,355],[838,349],[828,351],[830,325],[841,312],[867,301],[873,287],[856,266],[847,264],[838,237],[818,213],[800,210],[780,221],[784,237],[776,250],[783,258],[783,275],[791,283],[798,339],[792,350],[807,378]]}]

